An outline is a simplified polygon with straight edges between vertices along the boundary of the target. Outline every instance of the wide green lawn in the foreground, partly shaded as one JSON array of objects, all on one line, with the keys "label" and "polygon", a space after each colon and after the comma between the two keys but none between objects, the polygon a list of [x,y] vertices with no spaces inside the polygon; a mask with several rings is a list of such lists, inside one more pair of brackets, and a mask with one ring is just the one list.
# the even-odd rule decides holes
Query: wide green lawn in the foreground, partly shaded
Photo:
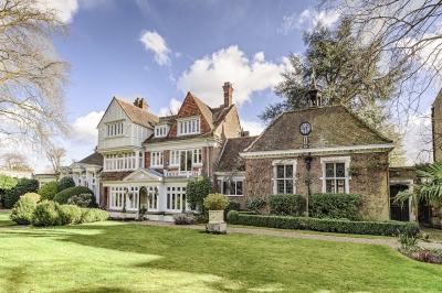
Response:
[{"label": "wide green lawn in the foreground, partly shaded", "polygon": [[389,247],[99,223],[0,230],[0,292],[440,292]]}]

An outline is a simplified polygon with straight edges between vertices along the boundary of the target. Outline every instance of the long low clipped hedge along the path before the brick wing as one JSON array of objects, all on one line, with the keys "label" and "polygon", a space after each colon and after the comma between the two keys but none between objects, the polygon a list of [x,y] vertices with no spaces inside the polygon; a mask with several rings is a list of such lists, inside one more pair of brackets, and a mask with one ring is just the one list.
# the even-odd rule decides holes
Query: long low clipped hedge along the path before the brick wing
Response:
[{"label": "long low clipped hedge along the path before the brick wing", "polygon": [[235,210],[228,214],[230,224],[280,229],[309,229],[324,232],[396,236],[419,234],[419,225],[411,221],[351,221],[306,217],[244,215]]}]

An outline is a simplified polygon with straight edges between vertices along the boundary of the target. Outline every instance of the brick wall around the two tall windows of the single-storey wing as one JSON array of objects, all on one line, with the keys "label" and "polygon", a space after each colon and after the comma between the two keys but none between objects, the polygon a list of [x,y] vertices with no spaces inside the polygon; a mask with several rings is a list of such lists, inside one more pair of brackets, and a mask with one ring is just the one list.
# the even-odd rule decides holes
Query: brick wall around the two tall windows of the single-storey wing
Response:
[{"label": "brick wall around the two tall windows of the single-storey wing", "polygon": [[[344,154],[335,155],[344,156]],[[351,156],[350,166],[355,170],[349,180],[349,192],[362,195],[362,206],[359,217],[365,220],[387,220],[390,217],[388,155],[387,153],[346,154]],[[311,164],[311,193],[323,192],[323,167],[320,158],[313,156]],[[296,193],[304,198],[307,195],[306,164],[303,156],[283,158],[297,159],[296,165]],[[273,166],[274,159],[248,159],[245,161],[245,193],[249,196],[267,196],[273,194]],[[278,160],[281,160],[278,158]]]}]

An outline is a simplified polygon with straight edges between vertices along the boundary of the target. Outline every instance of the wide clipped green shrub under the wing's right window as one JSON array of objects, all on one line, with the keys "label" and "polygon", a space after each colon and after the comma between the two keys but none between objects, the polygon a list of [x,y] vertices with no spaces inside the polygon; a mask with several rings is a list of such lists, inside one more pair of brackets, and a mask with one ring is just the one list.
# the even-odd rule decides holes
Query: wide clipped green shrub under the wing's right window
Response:
[{"label": "wide clipped green shrub under the wing's right window", "polygon": [[308,199],[308,213],[313,218],[347,218],[355,220],[362,203],[360,194],[317,193]]}]

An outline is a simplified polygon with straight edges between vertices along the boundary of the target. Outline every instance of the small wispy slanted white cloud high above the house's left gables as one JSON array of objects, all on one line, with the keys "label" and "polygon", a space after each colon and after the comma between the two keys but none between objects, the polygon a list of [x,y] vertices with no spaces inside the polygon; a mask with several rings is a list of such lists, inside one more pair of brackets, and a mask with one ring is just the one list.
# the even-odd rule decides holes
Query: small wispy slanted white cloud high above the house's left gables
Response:
[{"label": "small wispy slanted white cloud high above the house's left gables", "polygon": [[145,45],[146,51],[151,51],[155,54],[155,62],[158,65],[170,65],[169,54],[170,48],[167,47],[165,39],[156,31],[143,31],[139,41]]}]

